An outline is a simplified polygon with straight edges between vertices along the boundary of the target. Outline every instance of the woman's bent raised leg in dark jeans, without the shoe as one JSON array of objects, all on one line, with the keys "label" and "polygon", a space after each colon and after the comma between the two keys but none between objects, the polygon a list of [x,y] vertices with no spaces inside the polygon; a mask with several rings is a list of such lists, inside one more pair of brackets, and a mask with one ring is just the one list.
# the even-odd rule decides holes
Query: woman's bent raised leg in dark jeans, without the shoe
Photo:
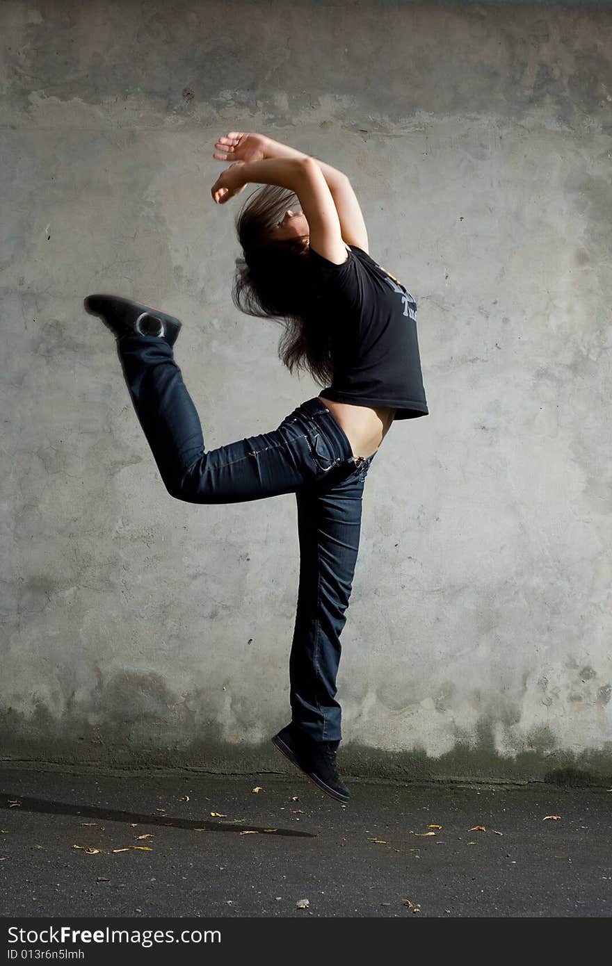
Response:
[{"label": "woman's bent raised leg in dark jeans, without the shoe", "polygon": [[204,447],[202,428],[172,347],[154,336],[117,343],[131,400],[163,483],[177,499],[232,503],[327,486],[355,472],[350,443],[308,400],[272,433]]}]

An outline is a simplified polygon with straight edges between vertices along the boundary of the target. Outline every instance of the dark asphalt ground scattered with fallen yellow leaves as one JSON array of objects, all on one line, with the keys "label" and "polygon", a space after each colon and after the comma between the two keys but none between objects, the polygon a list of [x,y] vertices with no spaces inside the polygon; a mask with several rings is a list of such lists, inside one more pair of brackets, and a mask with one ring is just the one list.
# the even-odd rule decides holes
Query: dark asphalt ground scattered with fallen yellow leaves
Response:
[{"label": "dark asphalt ground scattered with fallen yellow leaves", "polygon": [[347,781],[351,801],[340,806],[289,765],[252,776],[47,767],[0,769],[3,917],[612,909],[605,788]]}]

